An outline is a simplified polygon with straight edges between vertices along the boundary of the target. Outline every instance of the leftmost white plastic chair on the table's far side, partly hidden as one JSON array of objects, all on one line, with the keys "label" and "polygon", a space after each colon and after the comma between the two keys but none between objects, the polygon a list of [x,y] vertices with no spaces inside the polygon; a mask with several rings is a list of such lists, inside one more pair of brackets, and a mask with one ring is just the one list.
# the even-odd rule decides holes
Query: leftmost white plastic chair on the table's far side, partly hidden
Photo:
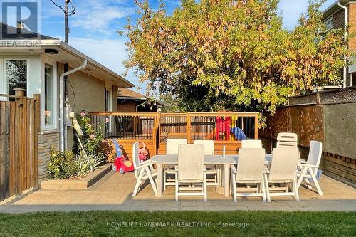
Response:
[{"label": "leftmost white plastic chair on the table's far side, partly hidden", "polygon": [[[178,154],[178,146],[180,144],[187,144],[187,139],[167,139],[166,154]],[[174,167],[164,167],[163,190],[166,190],[166,186],[174,186],[176,184],[175,178],[169,177],[175,174]]]}]

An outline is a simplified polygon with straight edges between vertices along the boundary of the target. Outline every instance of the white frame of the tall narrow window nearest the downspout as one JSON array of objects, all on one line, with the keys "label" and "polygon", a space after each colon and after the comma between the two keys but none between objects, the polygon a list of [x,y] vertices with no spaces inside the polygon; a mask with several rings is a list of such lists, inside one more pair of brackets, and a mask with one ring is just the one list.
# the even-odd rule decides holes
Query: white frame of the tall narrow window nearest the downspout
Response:
[{"label": "white frame of the tall narrow window nearest the downspout", "polygon": [[[52,65],[52,107],[53,107],[53,121],[52,125],[45,125],[45,68],[46,64]],[[50,60],[48,58],[44,58],[41,60],[41,130],[56,130],[58,129],[58,80],[57,80],[57,63],[54,60]]]}]

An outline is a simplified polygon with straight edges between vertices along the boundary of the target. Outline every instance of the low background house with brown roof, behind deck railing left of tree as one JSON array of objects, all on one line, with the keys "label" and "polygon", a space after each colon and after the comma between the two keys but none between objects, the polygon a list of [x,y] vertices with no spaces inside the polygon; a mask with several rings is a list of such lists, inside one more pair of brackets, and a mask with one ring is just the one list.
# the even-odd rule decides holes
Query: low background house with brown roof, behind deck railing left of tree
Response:
[{"label": "low background house with brown roof, behind deck railing left of tree", "polygon": [[127,88],[117,89],[117,111],[119,112],[155,112],[163,105],[159,102],[147,102],[147,97]]}]

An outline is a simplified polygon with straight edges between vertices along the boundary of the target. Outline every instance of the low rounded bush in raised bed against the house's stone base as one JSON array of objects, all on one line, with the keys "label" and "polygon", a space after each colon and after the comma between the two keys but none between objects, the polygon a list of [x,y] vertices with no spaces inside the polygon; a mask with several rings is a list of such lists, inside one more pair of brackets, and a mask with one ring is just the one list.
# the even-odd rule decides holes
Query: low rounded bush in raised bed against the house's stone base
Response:
[{"label": "low rounded bush in raised bed against the house's stone base", "polygon": [[74,153],[70,151],[60,152],[51,149],[51,162],[47,166],[53,179],[67,179],[77,174],[77,164],[74,161]]}]

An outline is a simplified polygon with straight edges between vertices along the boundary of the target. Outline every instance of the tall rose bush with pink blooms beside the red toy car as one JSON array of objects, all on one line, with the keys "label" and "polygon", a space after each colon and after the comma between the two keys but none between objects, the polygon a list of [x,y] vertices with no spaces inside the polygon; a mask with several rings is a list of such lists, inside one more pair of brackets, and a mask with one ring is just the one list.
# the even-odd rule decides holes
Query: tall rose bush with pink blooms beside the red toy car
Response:
[{"label": "tall rose bush with pink blooms beside the red toy car", "polygon": [[[83,131],[84,136],[81,137],[83,146],[85,147],[86,152],[89,154],[98,154],[100,146],[103,142],[103,133],[107,127],[108,118],[105,118],[105,122],[98,122],[98,126],[93,126],[91,124],[90,115],[83,111],[80,114],[76,115],[80,128]],[[76,143],[76,153],[79,154],[79,144]]]}]

